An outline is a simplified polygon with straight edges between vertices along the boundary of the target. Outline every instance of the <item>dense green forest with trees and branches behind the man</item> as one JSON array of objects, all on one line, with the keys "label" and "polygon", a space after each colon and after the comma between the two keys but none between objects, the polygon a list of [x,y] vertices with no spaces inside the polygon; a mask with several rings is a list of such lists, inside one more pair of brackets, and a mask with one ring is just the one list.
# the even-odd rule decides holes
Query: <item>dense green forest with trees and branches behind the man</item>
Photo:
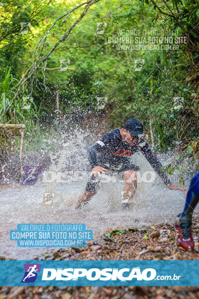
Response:
[{"label": "dense green forest with trees and branches behind the man", "polygon": [[[0,123],[25,124],[35,142],[62,119],[101,118],[113,129],[136,117],[149,141],[151,121],[158,150],[198,149],[198,1],[1,0],[0,8]],[[108,42],[133,28],[174,30],[179,50],[118,50]],[[135,59],[144,61],[140,70]],[[107,98],[104,108],[96,109],[97,98]]]}]

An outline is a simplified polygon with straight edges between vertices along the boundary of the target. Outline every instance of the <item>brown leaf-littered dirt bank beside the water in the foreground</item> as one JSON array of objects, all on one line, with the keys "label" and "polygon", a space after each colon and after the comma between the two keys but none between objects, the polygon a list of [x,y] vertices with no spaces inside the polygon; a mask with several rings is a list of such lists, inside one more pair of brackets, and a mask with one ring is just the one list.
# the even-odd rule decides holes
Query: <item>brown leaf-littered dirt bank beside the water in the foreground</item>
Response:
[{"label": "brown leaf-littered dirt bank beside the water in the foreground", "polygon": [[[162,231],[167,231],[162,234]],[[175,245],[174,226],[162,223],[100,236],[85,248],[58,249],[45,260],[198,260],[199,213],[193,221],[194,251]],[[146,238],[147,236],[147,238]],[[198,287],[0,287],[1,299],[198,299]]]}]

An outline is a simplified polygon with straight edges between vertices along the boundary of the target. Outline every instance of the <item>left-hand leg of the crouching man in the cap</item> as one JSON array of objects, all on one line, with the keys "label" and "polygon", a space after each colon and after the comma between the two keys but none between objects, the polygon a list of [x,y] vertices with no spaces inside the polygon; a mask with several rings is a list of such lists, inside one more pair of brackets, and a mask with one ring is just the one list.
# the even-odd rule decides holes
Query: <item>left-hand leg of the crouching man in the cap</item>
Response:
[{"label": "left-hand leg of the crouching man in the cap", "polygon": [[92,175],[92,177],[89,178],[84,193],[80,195],[78,199],[76,209],[79,209],[80,207],[87,204],[92,199],[92,197],[97,193],[97,190],[100,187],[99,184],[100,184],[99,178],[95,178],[94,175]]}]

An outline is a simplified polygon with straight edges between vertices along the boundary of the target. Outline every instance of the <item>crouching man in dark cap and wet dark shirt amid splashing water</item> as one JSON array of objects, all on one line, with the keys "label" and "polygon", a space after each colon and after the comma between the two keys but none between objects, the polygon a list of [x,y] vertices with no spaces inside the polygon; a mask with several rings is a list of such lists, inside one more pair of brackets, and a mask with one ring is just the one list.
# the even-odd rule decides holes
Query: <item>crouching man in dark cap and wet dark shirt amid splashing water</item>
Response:
[{"label": "crouching man in dark cap and wet dark shirt amid splashing water", "polygon": [[[131,164],[128,157],[137,151],[141,151],[149,161],[154,170],[160,175],[164,183],[171,190],[181,190],[184,188],[172,185],[162,169],[162,164],[149,148],[149,145],[142,138],[143,126],[137,119],[129,119],[122,129],[115,129],[106,133],[88,151],[91,162],[91,175],[87,182],[84,193],[79,197],[76,208],[88,203],[97,193],[100,183],[101,173],[117,174],[123,179],[125,199],[124,208],[128,209],[129,203],[137,187],[136,171],[139,167]],[[97,177],[98,175],[98,177]]]}]

